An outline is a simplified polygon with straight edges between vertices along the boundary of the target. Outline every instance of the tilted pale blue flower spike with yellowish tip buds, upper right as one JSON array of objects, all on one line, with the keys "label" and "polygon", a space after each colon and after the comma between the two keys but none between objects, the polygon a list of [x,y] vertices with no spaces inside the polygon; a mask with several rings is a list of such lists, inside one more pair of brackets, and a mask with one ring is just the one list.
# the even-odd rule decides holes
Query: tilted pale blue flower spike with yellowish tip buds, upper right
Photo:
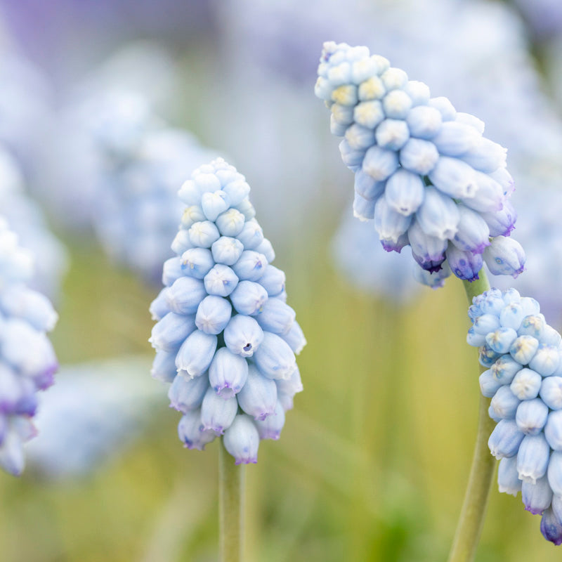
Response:
[{"label": "tilted pale blue flower spike with yellowish tip buds, upper right", "polygon": [[484,262],[497,275],[523,271],[523,248],[509,238],[516,212],[506,150],[483,136],[480,119],[431,98],[426,84],[367,47],[325,43],[318,74],[316,96],[355,172],[353,213],[374,220],[384,249],[410,245],[417,279],[431,286],[450,270],[478,279]]}]

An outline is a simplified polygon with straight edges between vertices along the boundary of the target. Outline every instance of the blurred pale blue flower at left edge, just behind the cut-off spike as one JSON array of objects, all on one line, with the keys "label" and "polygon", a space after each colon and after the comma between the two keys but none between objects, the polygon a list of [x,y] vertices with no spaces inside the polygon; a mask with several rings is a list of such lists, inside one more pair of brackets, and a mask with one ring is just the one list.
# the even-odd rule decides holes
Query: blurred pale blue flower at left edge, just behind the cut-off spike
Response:
[{"label": "blurred pale blue flower at left edge, just behind the cut-off spike", "polygon": [[0,149],[0,209],[22,245],[34,254],[30,287],[56,299],[68,266],[67,253],[48,230],[41,209],[25,195],[23,183],[17,162]]}]

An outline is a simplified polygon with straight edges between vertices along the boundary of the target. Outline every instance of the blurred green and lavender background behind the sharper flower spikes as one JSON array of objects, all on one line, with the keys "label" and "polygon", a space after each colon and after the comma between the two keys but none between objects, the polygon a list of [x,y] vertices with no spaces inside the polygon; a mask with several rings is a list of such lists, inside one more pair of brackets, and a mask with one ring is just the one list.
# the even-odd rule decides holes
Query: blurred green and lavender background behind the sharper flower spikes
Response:
[{"label": "blurred green and lavender background behind the sharper flower spikes", "polygon": [[[313,95],[325,40],[507,146],[528,271],[497,282],[562,327],[559,1],[2,0],[0,213],[37,256],[62,364],[25,473],[0,473],[3,561],[216,560],[217,446],[183,450],[147,341],[175,192],[216,155],[247,177],[308,339],[305,390],[247,469],[247,561],[446,558],[476,433],[466,298],[349,218]],[[539,524],[494,488],[477,560],[558,560]]]}]

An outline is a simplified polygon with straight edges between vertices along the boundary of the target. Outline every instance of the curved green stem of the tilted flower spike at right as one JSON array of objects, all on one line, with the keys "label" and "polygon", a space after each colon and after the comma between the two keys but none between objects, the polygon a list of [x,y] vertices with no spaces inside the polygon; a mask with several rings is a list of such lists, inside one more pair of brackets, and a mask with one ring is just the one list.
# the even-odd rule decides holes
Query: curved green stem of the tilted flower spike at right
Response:
[{"label": "curved green stem of the tilted flower spike at right", "polygon": [[[490,284],[483,270],[481,270],[480,275],[479,280],[471,283],[463,282],[470,304],[472,304],[473,296],[490,289]],[[457,523],[455,540],[453,540],[449,554],[449,562],[472,561],[476,554],[478,540],[480,540],[496,464],[494,457],[490,455],[490,450],[488,450],[488,438],[495,425],[494,421],[488,416],[489,406],[490,399],[481,396],[478,412],[478,433],[469,484],[464,495],[464,503]]]}]

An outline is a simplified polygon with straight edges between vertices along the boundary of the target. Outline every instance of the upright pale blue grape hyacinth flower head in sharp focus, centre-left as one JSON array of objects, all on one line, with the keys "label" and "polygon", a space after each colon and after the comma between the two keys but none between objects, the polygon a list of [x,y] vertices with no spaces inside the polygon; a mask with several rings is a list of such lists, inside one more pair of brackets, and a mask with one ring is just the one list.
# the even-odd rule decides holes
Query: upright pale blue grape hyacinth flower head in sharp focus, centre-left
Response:
[{"label": "upright pale blue grape hyacinth flower head in sharp focus, centre-left", "polygon": [[152,376],[171,383],[180,439],[203,450],[222,435],[236,464],[257,462],[259,440],[279,438],[302,390],[295,353],[306,344],[249,190],[222,158],[193,172],[178,192],[187,207],[176,257],[150,306]]}]

